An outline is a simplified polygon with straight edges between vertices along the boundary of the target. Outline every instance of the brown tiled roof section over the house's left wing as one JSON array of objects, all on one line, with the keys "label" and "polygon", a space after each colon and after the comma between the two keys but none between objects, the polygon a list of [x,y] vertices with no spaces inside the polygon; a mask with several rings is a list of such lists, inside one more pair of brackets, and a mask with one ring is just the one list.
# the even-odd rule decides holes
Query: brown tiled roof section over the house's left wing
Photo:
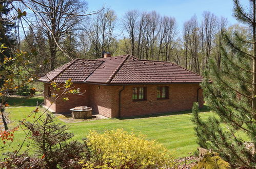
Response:
[{"label": "brown tiled roof section over the house's left wing", "polygon": [[64,82],[71,78],[73,82],[83,82],[102,63],[103,61],[100,60],[74,59],[47,73],[39,80],[45,82]]}]

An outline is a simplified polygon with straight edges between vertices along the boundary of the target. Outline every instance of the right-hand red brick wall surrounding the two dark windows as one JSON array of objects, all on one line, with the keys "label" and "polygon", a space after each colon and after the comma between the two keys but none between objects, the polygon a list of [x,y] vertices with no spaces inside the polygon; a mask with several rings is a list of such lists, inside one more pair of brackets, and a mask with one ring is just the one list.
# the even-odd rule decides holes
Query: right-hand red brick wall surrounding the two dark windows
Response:
[{"label": "right-hand red brick wall surrounding the two dark windows", "polygon": [[[168,99],[157,99],[156,88],[161,86],[169,87]],[[133,101],[133,87],[146,87],[147,99],[143,101]],[[190,110],[193,102],[197,100],[197,90],[199,88],[200,86],[198,84],[125,86],[121,94],[121,117]],[[117,91],[115,93],[117,93]],[[199,103],[202,108],[202,89],[199,90]],[[116,105],[116,107],[118,107],[118,105]],[[113,111],[112,113],[117,114]]]}]

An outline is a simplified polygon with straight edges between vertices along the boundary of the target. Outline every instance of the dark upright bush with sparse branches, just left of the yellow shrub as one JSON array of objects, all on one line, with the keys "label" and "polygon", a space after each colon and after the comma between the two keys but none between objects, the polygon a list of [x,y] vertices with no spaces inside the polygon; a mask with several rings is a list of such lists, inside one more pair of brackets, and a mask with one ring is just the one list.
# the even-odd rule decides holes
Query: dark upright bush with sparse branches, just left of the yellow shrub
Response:
[{"label": "dark upright bush with sparse branches, just left of the yellow shrub", "polygon": [[32,144],[35,146],[35,155],[41,156],[46,168],[77,168],[80,167],[77,159],[86,153],[85,145],[78,141],[70,141],[74,135],[67,132],[67,127],[54,123],[53,116],[46,115],[36,123],[26,122]]}]

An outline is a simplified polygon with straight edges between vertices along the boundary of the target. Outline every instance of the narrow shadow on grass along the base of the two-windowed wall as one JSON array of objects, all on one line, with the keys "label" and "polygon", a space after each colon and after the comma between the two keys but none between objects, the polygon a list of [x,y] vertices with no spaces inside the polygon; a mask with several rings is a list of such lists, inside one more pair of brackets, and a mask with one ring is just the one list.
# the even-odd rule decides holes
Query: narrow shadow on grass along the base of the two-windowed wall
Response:
[{"label": "narrow shadow on grass along the base of the two-windowed wall", "polygon": [[[209,112],[209,111],[210,111],[210,109],[209,109],[208,105],[204,105],[204,107],[200,109],[200,112]],[[152,114],[152,115],[139,115],[139,116],[131,116],[131,117],[121,117],[121,118],[116,118],[116,119],[126,120],[126,119],[134,119],[134,118],[159,117],[159,116],[190,114],[190,113],[192,113],[192,110],[186,110],[186,111],[181,111],[181,112],[165,112],[165,113]]]}]

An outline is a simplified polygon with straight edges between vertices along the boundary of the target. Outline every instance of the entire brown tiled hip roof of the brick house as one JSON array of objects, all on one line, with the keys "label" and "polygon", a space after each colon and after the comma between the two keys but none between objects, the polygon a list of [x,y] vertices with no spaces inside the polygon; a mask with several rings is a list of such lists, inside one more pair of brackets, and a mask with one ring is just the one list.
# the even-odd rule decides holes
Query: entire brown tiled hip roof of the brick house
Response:
[{"label": "entire brown tiled hip roof of the brick house", "polygon": [[[85,67],[81,62],[86,62]],[[85,64],[85,65],[86,65]],[[105,84],[200,83],[203,77],[168,61],[140,60],[122,55],[97,60],[77,59],[48,73],[53,81]],[[48,77],[49,77],[48,76]],[[40,80],[45,81],[45,76]]]}]

